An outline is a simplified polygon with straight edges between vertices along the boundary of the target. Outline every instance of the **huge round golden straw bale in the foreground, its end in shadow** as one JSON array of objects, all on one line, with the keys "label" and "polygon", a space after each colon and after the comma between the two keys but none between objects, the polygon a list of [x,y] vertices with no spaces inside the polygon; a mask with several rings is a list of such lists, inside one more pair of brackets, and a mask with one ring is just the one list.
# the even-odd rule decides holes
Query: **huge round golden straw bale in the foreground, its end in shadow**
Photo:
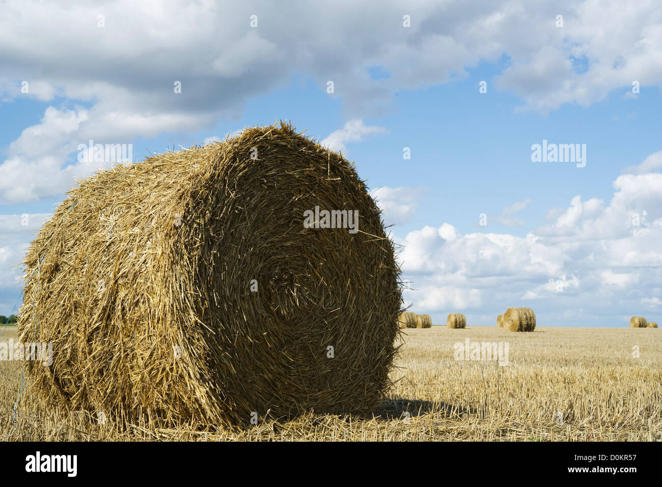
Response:
[{"label": "huge round golden straw bale in the foreground, its end in shadow", "polygon": [[[369,412],[399,266],[354,164],[281,122],[79,181],[24,261],[47,404],[118,424]],[[268,412],[268,414],[267,414]]]}]

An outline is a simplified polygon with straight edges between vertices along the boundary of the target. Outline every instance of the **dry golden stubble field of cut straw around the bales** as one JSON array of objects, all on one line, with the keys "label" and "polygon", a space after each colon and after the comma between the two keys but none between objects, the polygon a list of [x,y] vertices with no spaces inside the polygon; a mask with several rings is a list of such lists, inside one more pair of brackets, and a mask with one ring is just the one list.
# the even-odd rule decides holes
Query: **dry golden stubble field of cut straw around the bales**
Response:
[{"label": "dry golden stubble field of cut straw around the bales", "polygon": [[[1,341],[16,337],[8,330]],[[21,363],[0,362],[0,439],[662,440],[658,330],[538,327],[532,333],[510,333],[496,327],[433,326],[404,333],[401,369],[392,373],[401,380],[374,416],[308,413],[243,429],[150,429],[143,418],[118,431],[113,418],[99,425],[87,413],[67,415],[28,396],[22,397],[13,425]],[[467,338],[508,343],[508,365],[455,361],[453,344]]]}]

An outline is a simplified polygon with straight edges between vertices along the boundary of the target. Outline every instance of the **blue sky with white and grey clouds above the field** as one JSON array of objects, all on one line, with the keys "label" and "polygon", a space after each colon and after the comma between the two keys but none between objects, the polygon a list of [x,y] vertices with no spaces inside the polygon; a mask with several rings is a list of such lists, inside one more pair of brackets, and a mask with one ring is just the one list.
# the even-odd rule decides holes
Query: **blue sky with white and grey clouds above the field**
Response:
[{"label": "blue sky with white and grey clouds above the field", "polygon": [[140,160],[282,118],[357,163],[433,323],[659,322],[661,87],[657,1],[3,1],[0,314],[64,191],[109,166],[80,144]]}]

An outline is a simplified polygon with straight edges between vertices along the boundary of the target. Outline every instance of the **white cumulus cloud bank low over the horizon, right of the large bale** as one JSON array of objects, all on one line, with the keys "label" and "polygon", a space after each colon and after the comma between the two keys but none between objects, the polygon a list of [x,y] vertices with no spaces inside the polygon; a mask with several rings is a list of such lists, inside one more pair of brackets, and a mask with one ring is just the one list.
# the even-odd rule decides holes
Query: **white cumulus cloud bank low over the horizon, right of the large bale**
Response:
[{"label": "white cumulus cloud bank low over the horizon, right of the large bale", "polygon": [[395,238],[404,245],[406,304],[436,321],[466,310],[486,325],[486,312],[510,306],[534,308],[541,326],[620,326],[642,306],[654,320],[662,314],[662,174],[621,175],[613,187],[608,204],[578,195],[555,222],[522,237],[460,234],[445,223]]}]

